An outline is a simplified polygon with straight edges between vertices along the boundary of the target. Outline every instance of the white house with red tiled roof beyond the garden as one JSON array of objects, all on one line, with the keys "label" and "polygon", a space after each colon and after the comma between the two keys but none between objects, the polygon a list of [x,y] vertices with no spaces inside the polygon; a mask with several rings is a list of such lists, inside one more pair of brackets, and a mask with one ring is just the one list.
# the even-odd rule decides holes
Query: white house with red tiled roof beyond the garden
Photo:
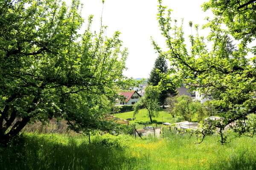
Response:
[{"label": "white house with red tiled roof beyond the garden", "polygon": [[137,91],[121,92],[119,95],[124,96],[125,100],[120,101],[119,99],[117,99],[117,105],[134,105],[141,98],[140,94],[138,94]]}]

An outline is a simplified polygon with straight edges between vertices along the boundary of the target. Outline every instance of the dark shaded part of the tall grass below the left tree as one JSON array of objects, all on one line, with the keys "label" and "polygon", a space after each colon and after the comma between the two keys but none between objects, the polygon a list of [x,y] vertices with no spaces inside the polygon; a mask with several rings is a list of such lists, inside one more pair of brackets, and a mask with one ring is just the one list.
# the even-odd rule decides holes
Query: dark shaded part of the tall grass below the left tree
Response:
[{"label": "dark shaded part of the tall grass below the left tree", "polygon": [[119,170],[119,162],[129,161],[120,146],[110,146],[111,142],[109,145],[108,142],[88,144],[86,139],[82,141],[79,138],[37,134],[22,136],[9,148],[0,149],[0,169]]}]

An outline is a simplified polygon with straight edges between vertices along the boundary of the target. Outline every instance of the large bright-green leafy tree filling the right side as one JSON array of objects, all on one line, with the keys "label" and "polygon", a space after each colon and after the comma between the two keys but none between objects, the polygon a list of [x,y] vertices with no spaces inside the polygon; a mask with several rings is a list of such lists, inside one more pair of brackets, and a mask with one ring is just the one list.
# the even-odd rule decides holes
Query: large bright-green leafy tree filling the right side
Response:
[{"label": "large bright-green leafy tree filling the right side", "polygon": [[[250,2],[250,3],[249,3]],[[159,0],[158,22],[163,36],[166,38],[168,51],[160,51],[160,47],[153,41],[154,48],[172,63],[169,76],[175,84],[185,84],[192,90],[197,90],[205,96],[211,95],[212,104],[220,113],[221,120],[213,121],[212,125],[204,125],[196,134],[202,140],[207,135],[212,135],[218,128],[221,143],[228,142],[225,129],[231,122],[239,136],[241,134],[251,136],[255,127],[247,126],[247,115],[256,112],[256,57],[248,57],[249,52],[256,54],[255,47],[250,48],[248,43],[255,40],[256,13],[252,1],[245,0],[210,0],[204,3],[204,10],[212,9],[216,17],[213,20],[207,18],[204,26],[211,29],[206,38],[199,36],[199,26],[195,25],[196,34],[190,35],[190,47],[186,46],[183,37],[183,26],[176,26],[171,19],[171,10],[165,14],[166,7]],[[228,28],[223,28],[225,24]],[[231,39],[239,40],[237,49],[230,48]],[[212,44],[207,47],[205,41]],[[210,50],[209,50],[210,49]],[[231,49],[231,50],[230,50]],[[172,75],[172,76],[170,76]],[[248,135],[249,134],[249,135]]]}]

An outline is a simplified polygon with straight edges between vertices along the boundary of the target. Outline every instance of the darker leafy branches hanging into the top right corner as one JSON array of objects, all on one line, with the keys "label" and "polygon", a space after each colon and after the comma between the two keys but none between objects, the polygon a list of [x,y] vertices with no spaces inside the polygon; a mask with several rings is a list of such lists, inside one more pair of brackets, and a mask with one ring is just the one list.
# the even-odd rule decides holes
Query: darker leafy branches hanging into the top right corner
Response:
[{"label": "darker leafy branches hanging into the top right corner", "polygon": [[[210,0],[204,3],[203,10],[212,10],[216,16],[215,19],[209,20],[208,25],[212,26],[212,31],[219,29],[218,27],[223,23],[229,29],[235,40],[242,40],[241,45],[247,45],[247,42],[252,42],[256,37],[256,14],[255,2],[253,0]],[[218,24],[216,24],[218,23]],[[255,53],[256,47],[251,49]]]}]

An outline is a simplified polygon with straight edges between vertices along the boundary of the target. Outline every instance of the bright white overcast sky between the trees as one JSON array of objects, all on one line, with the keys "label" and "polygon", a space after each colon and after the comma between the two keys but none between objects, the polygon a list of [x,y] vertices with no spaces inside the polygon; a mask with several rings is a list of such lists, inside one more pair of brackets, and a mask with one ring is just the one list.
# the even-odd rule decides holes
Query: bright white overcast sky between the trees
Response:
[{"label": "bright white overcast sky between the trees", "polygon": [[[201,5],[205,0],[163,0],[163,6],[168,6],[172,11],[172,18],[180,21],[184,18],[185,38],[191,34],[189,21],[193,24],[204,24],[206,14],[201,10]],[[103,25],[108,26],[107,36],[111,37],[114,31],[120,31],[120,39],[123,46],[128,48],[129,55],[126,61],[127,71],[124,75],[133,78],[148,78],[154,61],[157,58],[150,37],[164,47],[158,22],[157,0],[81,0],[84,4],[82,17],[92,14],[93,31],[98,31],[100,27],[100,17],[103,6]],[[86,20],[87,22],[87,20]],[[83,28],[84,30],[84,28]],[[199,34],[204,34],[200,31]]]}]

